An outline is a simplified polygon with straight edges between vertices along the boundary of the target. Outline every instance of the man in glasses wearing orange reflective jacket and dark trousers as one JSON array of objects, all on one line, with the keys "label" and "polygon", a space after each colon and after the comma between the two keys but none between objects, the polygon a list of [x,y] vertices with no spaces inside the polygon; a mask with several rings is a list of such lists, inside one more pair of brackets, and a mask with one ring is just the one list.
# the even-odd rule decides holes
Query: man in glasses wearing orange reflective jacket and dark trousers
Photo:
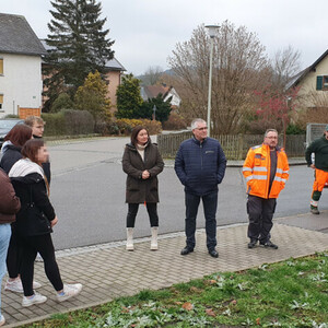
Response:
[{"label": "man in glasses wearing orange reflective jacket and dark trousers", "polygon": [[249,149],[243,166],[247,181],[248,248],[259,244],[278,249],[270,241],[272,218],[277,198],[289,178],[289,162],[282,148],[278,145],[278,132],[268,129],[263,143]]}]

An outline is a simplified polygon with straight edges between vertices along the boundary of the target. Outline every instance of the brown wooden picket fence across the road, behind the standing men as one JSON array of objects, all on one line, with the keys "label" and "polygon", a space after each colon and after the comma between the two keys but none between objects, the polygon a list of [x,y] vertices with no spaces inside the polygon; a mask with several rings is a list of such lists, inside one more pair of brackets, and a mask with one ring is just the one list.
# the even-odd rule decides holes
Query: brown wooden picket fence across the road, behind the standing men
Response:
[{"label": "brown wooden picket fence across the road, behind the standing men", "polygon": [[[212,136],[218,139],[227,160],[244,160],[250,147],[261,144],[263,134],[226,134]],[[191,132],[159,134],[157,144],[164,159],[174,159],[180,143],[191,138]],[[283,144],[283,136],[279,136],[279,144]],[[286,136],[285,152],[289,157],[303,157],[305,134]]]}]

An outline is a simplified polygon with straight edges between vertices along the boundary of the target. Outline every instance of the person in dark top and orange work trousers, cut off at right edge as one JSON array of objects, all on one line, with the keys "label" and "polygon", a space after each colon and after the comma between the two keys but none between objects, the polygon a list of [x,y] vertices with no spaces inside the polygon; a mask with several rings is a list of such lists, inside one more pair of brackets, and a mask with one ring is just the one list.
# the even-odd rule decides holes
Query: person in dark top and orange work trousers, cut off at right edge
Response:
[{"label": "person in dark top and orange work trousers, cut off at right edge", "polygon": [[[312,154],[315,154],[314,163],[312,163]],[[324,136],[316,139],[309,144],[305,151],[305,160],[307,166],[315,169],[315,181],[313,184],[311,212],[320,214],[318,202],[321,192],[328,184],[328,125],[325,128]]]}]

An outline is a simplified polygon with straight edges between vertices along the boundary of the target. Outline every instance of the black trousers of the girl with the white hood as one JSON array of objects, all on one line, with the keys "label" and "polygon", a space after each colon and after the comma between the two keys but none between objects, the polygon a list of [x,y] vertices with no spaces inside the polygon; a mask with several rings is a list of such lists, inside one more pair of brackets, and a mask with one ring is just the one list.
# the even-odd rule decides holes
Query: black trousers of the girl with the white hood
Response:
[{"label": "black trousers of the girl with the white hood", "polygon": [[45,272],[56,291],[63,288],[59,268],[55,257],[55,248],[50,234],[40,236],[22,237],[22,261],[21,279],[24,289],[24,295],[31,296],[33,292],[34,261],[37,253],[42,256],[45,266]]}]

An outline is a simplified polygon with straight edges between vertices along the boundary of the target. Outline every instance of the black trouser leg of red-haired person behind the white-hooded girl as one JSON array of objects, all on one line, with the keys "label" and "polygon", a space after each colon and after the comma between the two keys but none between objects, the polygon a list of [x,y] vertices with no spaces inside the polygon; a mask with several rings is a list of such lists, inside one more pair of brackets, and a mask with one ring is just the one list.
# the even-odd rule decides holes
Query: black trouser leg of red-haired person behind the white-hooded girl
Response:
[{"label": "black trouser leg of red-haired person behind the white-hooded girl", "polygon": [[5,259],[9,278],[14,279],[19,277],[20,260],[21,260],[21,246],[19,243],[19,236],[16,233],[15,225],[11,224],[11,237],[10,237],[7,259]]}]

